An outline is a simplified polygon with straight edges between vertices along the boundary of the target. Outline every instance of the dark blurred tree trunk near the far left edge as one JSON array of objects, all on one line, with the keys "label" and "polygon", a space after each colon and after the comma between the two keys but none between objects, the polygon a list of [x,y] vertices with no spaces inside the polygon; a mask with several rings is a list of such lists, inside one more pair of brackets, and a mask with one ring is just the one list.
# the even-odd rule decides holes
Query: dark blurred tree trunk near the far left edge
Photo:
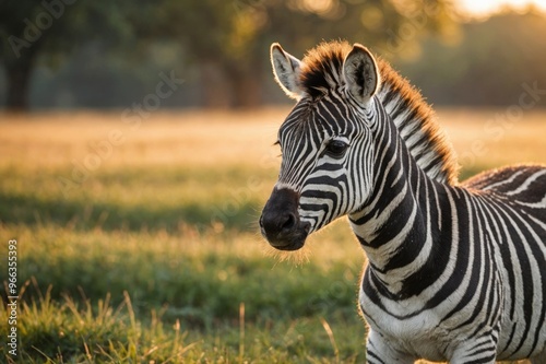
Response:
[{"label": "dark blurred tree trunk near the far left edge", "polygon": [[28,111],[28,86],[33,70],[33,59],[21,57],[7,62],[8,96],[5,109],[10,113]]}]

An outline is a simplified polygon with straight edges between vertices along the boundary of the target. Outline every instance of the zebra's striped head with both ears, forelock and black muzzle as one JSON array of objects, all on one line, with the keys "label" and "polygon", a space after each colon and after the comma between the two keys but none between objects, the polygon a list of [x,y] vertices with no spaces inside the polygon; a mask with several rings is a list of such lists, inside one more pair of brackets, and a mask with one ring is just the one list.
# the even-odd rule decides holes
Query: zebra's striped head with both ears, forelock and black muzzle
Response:
[{"label": "zebra's striped head with both ears, forelock and black muzzle", "polygon": [[273,44],[271,61],[297,104],[278,130],[281,172],[260,226],[273,247],[295,250],[310,233],[356,212],[371,191],[370,128],[380,77],[359,44],[321,45],[302,61]]}]

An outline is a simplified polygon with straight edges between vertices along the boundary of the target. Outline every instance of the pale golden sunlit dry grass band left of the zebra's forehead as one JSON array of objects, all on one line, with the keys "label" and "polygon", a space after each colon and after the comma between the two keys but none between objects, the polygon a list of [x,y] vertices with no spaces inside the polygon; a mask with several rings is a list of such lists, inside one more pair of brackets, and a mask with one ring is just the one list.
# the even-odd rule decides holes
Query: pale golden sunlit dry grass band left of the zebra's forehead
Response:
[{"label": "pale golden sunlit dry grass band left of the zebra's forehead", "polygon": [[0,165],[62,167],[72,160],[83,161],[96,143],[110,143],[112,153],[103,162],[106,167],[256,166],[278,153],[271,144],[287,110],[156,113],[140,124],[126,122],[122,113],[115,111],[3,116]]}]

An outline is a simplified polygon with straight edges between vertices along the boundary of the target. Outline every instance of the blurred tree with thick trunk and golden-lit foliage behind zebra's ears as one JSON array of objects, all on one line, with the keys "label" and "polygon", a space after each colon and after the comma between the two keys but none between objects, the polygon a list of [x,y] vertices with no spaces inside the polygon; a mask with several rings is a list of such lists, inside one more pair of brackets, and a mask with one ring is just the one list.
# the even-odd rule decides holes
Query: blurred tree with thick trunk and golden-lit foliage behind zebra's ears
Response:
[{"label": "blurred tree with thick trunk and golden-lit foliage behind zebra's ears", "polygon": [[391,45],[394,54],[454,24],[449,0],[164,0],[150,10],[156,26],[146,33],[183,44],[200,64],[204,106],[216,107],[261,104],[272,42],[296,55],[335,38]]}]

